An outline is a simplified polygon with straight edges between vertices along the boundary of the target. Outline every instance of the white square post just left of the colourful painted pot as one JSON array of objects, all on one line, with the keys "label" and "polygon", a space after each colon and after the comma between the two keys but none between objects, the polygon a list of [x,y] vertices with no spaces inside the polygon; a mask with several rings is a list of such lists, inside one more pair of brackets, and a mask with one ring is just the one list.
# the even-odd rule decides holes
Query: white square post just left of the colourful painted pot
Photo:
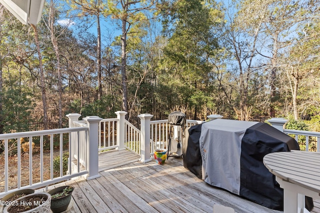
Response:
[{"label": "white square post just left of the colourful painted pot", "polygon": [[153,115],[150,114],[140,114],[140,141],[141,141],[141,158],[140,161],[143,163],[151,161],[150,159],[150,119]]}]

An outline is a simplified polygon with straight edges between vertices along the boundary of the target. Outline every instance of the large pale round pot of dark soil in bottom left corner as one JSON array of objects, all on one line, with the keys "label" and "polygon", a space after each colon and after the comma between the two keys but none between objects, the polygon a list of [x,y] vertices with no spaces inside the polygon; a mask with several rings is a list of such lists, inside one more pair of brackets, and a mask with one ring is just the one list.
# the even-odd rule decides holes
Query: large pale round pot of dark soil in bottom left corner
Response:
[{"label": "large pale round pot of dark soil in bottom left corner", "polygon": [[50,194],[33,193],[12,201],[3,213],[51,213],[50,203]]}]

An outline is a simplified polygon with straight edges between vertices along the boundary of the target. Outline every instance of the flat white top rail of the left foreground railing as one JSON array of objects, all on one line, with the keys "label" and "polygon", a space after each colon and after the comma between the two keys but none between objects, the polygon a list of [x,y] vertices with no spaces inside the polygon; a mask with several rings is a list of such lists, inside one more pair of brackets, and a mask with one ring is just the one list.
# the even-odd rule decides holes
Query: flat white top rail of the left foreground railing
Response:
[{"label": "flat white top rail of the left foreground railing", "polygon": [[72,128],[39,130],[39,131],[29,131],[29,132],[5,133],[5,134],[0,134],[0,140],[30,137],[30,136],[52,135],[52,134],[69,133],[69,132],[78,132],[78,131],[86,131],[86,130],[88,130],[87,127],[72,127]]}]

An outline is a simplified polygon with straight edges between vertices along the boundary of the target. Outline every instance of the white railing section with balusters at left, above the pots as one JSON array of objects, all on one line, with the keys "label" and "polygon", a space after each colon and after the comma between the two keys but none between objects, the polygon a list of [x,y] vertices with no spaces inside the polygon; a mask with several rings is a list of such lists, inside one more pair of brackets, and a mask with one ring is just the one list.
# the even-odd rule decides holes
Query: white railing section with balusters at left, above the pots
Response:
[{"label": "white railing section with balusters at left, above the pots", "polygon": [[[77,169],[77,172],[72,172],[71,171],[71,161],[69,160],[69,164],[68,164],[68,174],[63,174],[62,170],[62,155],[63,155],[63,144],[66,141],[63,141],[63,135],[64,134],[68,134],[68,139],[67,139],[67,143],[68,143],[68,147],[69,147],[69,159],[70,158],[70,149],[72,147],[72,143],[71,140],[75,140],[75,141],[79,141],[79,137],[77,138],[73,138],[71,139],[71,134],[72,133],[77,133],[77,135],[79,135],[79,133],[84,132],[85,134],[87,134],[88,132],[88,128],[87,127],[74,127],[74,128],[63,128],[63,129],[55,129],[55,130],[42,130],[42,131],[32,131],[32,132],[20,132],[20,133],[8,133],[8,134],[0,134],[0,141],[2,141],[2,143],[4,143],[4,190],[2,192],[0,192],[0,196],[8,193],[8,192],[13,192],[16,191],[18,189],[25,189],[25,188],[31,188],[31,189],[35,189],[35,188],[39,188],[39,187],[43,187],[43,186],[47,186],[49,184],[54,184],[54,183],[58,183],[60,181],[63,180],[68,180],[70,178],[74,178],[77,176],[82,176],[84,174],[87,174],[88,171],[86,169],[86,167],[83,168],[82,171],[80,171],[80,169]],[[49,150],[50,151],[50,165],[45,165],[43,162],[43,157],[44,157],[44,136],[47,136],[48,138],[48,142],[49,142]],[[54,136],[58,136],[58,137],[54,137]],[[22,174],[21,174],[21,166],[22,166],[22,154],[21,153],[21,138],[28,138],[28,182],[25,184],[22,184]],[[33,151],[32,151],[32,142],[37,139],[39,141],[39,161],[37,163],[34,163],[34,155],[33,155]],[[59,171],[59,177],[54,177],[53,175],[53,142],[54,140],[58,140],[56,142],[58,142],[59,144],[59,164],[60,164],[60,171]],[[64,139],[65,140],[65,139]],[[85,139],[86,140],[86,139]],[[10,147],[9,147],[10,145]],[[16,167],[14,165],[10,165],[9,168],[9,149],[12,149],[13,151],[16,150],[16,155],[15,156],[11,156],[13,158],[16,158]],[[80,149],[80,148],[79,148]],[[81,149],[85,150],[85,147],[82,147]],[[39,180],[38,181],[34,181],[34,166],[33,165],[39,165]],[[46,167],[50,168],[49,171],[49,178],[44,178],[44,172],[43,169]],[[79,164],[77,164],[77,166],[79,167]],[[13,173],[15,173],[14,171],[16,170],[16,185],[14,186],[9,186],[9,169],[13,169]],[[14,176],[14,174],[13,174]],[[10,189],[11,188],[11,189]]]}]

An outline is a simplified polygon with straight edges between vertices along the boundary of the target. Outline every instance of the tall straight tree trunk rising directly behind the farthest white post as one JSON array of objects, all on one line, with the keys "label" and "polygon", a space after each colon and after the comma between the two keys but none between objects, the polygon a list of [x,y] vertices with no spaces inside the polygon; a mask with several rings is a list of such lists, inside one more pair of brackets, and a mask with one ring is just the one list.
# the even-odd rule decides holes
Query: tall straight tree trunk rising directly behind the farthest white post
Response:
[{"label": "tall straight tree trunk rising directly behind the farthest white post", "polygon": [[[122,110],[128,111],[127,103],[127,78],[126,78],[126,20],[122,19],[121,36],[121,75],[122,75]],[[128,119],[128,114],[125,116]]]}]

